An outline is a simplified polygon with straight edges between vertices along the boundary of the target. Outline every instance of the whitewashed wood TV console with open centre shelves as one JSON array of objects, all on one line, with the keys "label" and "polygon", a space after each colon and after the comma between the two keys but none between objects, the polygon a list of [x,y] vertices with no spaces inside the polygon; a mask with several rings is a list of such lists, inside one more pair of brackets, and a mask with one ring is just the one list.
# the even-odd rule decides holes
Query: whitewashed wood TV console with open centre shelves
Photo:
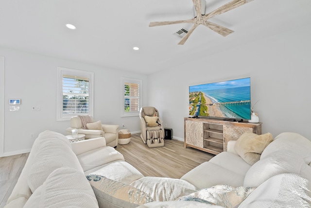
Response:
[{"label": "whitewashed wood TV console with open centre shelves", "polygon": [[214,155],[227,151],[227,142],[239,139],[246,131],[261,134],[261,123],[185,118],[184,125],[184,147],[189,146]]}]

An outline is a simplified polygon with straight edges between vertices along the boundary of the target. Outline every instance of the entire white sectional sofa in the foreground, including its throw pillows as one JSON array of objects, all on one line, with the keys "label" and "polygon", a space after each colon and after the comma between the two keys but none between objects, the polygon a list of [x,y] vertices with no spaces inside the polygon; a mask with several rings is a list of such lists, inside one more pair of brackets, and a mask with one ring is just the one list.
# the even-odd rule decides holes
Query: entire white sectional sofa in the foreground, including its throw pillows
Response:
[{"label": "entire white sectional sofa in the foreground, including its throw pillows", "polygon": [[235,151],[237,143],[229,142],[228,152],[173,179],[144,177],[106,147],[104,138],[69,143],[45,131],[35,140],[6,208],[311,207],[310,140],[282,133],[253,165]]}]

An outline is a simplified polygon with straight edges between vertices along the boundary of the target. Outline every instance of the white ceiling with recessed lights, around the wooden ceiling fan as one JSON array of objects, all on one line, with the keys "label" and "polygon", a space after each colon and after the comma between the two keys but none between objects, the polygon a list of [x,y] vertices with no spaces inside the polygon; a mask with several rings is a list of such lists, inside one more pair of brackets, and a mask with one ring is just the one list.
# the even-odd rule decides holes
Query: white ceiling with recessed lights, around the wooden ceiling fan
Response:
[{"label": "white ceiling with recessed lights, around the wooden ceiling fan", "polygon": [[[229,0],[206,0],[207,13]],[[200,25],[185,45],[173,33],[191,24],[192,0],[0,0],[0,46],[150,74],[209,54],[311,26],[311,0],[254,0],[210,19],[235,32]],[[66,23],[77,26],[69,30]],[[139,51],[132,48],[138,46]]]}]

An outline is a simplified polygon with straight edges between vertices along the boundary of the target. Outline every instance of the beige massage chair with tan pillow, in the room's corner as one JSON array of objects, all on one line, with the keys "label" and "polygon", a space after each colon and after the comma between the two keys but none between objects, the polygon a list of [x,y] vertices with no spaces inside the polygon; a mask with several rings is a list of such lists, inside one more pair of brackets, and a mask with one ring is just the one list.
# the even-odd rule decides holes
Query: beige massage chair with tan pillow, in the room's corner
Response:
[{"label": "beige massage chair with tan pillow, in the room's corner", "polygon": [[140,137],[148,147],[164,146],[164,126],[155,107],[142,107],[139,112]]}]

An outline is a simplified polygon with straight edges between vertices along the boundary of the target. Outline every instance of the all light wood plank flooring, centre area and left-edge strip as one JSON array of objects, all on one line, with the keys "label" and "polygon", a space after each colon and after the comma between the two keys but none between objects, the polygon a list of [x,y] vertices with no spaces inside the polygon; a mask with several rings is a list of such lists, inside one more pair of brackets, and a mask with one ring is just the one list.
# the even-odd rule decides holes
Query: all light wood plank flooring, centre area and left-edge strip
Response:
[{"label": "all light wood plank flooring, centre area and left-edge strip", "polygon": [[[165,139],[165,146],[149,148],[133,134],[130,143],[118,145],[116,148],[144,176],[180,178],[214,155],[193,148],[184,148],[184,142]],[[29,156],[0,157],[0,208],[6,205],[17,179]]]}]

